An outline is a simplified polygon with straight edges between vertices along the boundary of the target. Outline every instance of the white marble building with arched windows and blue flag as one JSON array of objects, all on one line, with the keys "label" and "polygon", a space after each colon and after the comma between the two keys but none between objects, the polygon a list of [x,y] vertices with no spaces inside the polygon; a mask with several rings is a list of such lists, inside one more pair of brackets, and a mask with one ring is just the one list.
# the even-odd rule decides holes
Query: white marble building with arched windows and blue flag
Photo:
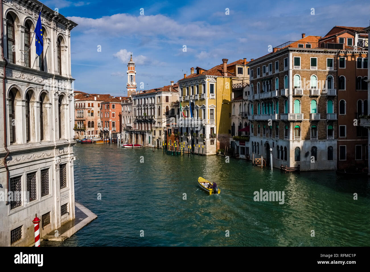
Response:
[{"label": "white marble building with arched windows and blue flag", "polygon": [[43,6],[38,57],[33,35],[41,5],[2,1],[0,246],[33,244],[35,214],[41,237],[74,218],[70,31],[77,24]]}]

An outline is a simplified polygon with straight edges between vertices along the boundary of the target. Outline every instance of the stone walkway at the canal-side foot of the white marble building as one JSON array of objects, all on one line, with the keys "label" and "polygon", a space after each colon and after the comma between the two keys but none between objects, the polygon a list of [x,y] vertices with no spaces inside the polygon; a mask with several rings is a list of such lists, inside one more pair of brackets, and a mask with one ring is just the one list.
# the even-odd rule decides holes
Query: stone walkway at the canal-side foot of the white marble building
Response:
[{"label": "stone walkway at the canal-side foot of the white marble building", "polygon": [[58,236],[55,236],[55,231],[52,231],[43,236],[41,241],[50,240],[63,242],[65,239],[71,237],[97,217],[98,216],[91,212],[88,208],[78,202],[75,202],[75,219],[68,221],[63,226],[58,228]]}]

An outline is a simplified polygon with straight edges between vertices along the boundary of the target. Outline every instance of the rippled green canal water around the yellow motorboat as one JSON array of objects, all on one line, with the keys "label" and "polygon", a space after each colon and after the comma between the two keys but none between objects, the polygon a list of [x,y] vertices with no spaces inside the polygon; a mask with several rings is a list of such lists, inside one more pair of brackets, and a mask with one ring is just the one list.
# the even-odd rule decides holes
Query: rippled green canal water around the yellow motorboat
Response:
[{"label": "rippled green canal water around the yellow motorboat", "polygon": [[[367,178],[281,173],[245,160],[109,144],[76,144],[74,151],[75,200],[98,218],[45,246],[370,245]],[[221,194],[201,191],[198,177],[216,181]],[[254,201],[260,189],[284,191],[284,204]]]}]

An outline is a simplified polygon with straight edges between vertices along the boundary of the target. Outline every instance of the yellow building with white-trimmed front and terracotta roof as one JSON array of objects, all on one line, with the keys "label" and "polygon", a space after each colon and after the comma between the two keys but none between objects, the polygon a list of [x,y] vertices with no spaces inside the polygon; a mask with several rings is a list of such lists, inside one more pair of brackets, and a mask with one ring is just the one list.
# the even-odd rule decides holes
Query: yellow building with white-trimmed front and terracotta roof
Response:
[{"label": "yellow building with white-trimmed front and terracotta roof", "polygon": [[[233,84],[248,78],[246,59],[222,64],[209,70],[191,68],[191,74],[178,81],[179,101],[186,117],[179,118],[180,141],[204,146],[204,154],[229,147]],[[196,70],[196,72],[194,72]],[[191,118],[191,113],[194,119]]]}]

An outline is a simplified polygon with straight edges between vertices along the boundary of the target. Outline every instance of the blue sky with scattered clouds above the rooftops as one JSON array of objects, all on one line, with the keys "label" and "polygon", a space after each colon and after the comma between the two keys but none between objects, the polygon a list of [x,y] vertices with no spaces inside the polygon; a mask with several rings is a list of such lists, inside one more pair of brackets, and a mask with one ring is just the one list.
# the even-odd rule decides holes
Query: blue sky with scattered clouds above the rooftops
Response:
[{"label": "blue sky with scattered clouds above the rooftops", "polygon": [[325,36],[370,20],[367,1],[41,1],[78,24],[71,31],[75,90],[115,96],[127,95],[130,52],[137,90],[149,90],[176,83],[191,67],[249,61],[302,33]]}]

